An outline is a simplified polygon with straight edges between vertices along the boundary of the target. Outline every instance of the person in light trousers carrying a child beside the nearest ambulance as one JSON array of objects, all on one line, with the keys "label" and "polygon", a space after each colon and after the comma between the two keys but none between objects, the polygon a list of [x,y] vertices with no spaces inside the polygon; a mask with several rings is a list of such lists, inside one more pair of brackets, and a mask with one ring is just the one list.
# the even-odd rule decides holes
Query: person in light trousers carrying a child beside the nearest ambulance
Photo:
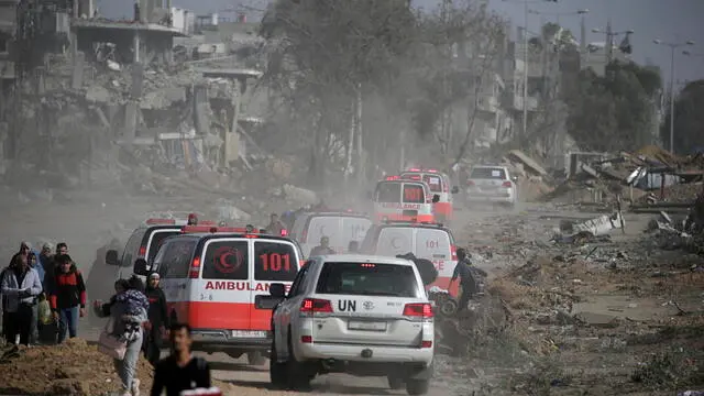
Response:
[{"label": "person in light trousers carrying a child beside the nearest ambulance", "polygon": [[[101,318],[110,317],[113,321],[112,334],[127,343],[124,358],[113,360],[114,370],[122,383],[122,396],[140,396],[140,380],[135,374],[148,307],[148,300],[141,292],[144,289],[141,283],[136,276],[129,282],[118,282],[116,283],[117,294],[110,298],[109,302],[94,301],[96,315]],[[127,289],[121,292],[122,288]]]}]

